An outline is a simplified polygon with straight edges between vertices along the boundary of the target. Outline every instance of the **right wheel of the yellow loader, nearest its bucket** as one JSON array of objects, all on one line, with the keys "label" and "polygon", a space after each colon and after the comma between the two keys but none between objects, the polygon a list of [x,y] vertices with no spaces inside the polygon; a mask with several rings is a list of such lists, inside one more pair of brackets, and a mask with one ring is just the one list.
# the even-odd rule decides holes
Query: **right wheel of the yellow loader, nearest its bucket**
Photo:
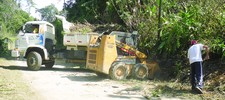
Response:
[{"label": "right wheel of the yellow loader, nearest its bucket", "polygon": [[144,64],[136,64],[132,68],[132,77],[135,79],[144,79],[148,76],[148,68]]}]

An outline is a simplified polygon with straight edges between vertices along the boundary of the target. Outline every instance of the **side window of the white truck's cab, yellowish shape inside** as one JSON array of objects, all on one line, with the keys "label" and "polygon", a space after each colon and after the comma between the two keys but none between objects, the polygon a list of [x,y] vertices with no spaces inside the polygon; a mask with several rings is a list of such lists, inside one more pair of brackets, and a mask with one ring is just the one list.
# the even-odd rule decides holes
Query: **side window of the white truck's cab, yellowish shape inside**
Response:
[{"label": "side window of the white truck's cab, yellowish shape inside", "polygon": [[38,24],[26,24],[24,27],[25,33],[39,33],[39,25]]}]

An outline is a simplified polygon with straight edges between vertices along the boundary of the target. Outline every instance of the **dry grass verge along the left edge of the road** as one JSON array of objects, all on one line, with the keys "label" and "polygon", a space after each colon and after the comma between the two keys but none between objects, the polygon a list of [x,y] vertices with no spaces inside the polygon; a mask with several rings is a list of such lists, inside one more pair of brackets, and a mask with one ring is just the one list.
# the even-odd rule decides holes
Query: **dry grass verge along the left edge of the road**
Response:
[{"label": "dry grass verge along the left edge of the road", "polygon": [[13,61],[0,58],[0,100],[30,100],[35,98],[29,85],[22,79],[22,73],[18,70],[9,70]]}]

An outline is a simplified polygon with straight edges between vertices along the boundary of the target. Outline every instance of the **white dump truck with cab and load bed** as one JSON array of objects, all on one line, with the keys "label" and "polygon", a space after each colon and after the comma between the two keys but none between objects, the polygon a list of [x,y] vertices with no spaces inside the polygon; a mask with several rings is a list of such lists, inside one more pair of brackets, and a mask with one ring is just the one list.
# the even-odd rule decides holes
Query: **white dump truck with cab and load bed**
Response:
[{"label": "white dump truck with cab and load bed", "polygon": [[[66,33],[63,43],[67,47],[64,57],[70,62],[85,63],[87,46],[91,35],[98,33]],[[39,70],[42,65],[52,68],[55,63],[55,27],[46,21],[29,21],[17,35],[12,57],[23,57],[30,70]]]}]

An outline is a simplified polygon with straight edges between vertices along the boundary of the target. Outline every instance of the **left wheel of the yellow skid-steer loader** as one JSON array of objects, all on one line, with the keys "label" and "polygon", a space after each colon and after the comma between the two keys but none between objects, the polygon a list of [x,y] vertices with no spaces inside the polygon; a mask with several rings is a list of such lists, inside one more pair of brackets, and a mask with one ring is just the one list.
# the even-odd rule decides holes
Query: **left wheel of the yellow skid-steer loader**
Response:
[{"label": "left wheel of the yellow skid-steer loader", "polygon": [[109,76],[114,80],[123,80],[128,76],[128,70],[124,63],[114,62],[109,69]]}]

